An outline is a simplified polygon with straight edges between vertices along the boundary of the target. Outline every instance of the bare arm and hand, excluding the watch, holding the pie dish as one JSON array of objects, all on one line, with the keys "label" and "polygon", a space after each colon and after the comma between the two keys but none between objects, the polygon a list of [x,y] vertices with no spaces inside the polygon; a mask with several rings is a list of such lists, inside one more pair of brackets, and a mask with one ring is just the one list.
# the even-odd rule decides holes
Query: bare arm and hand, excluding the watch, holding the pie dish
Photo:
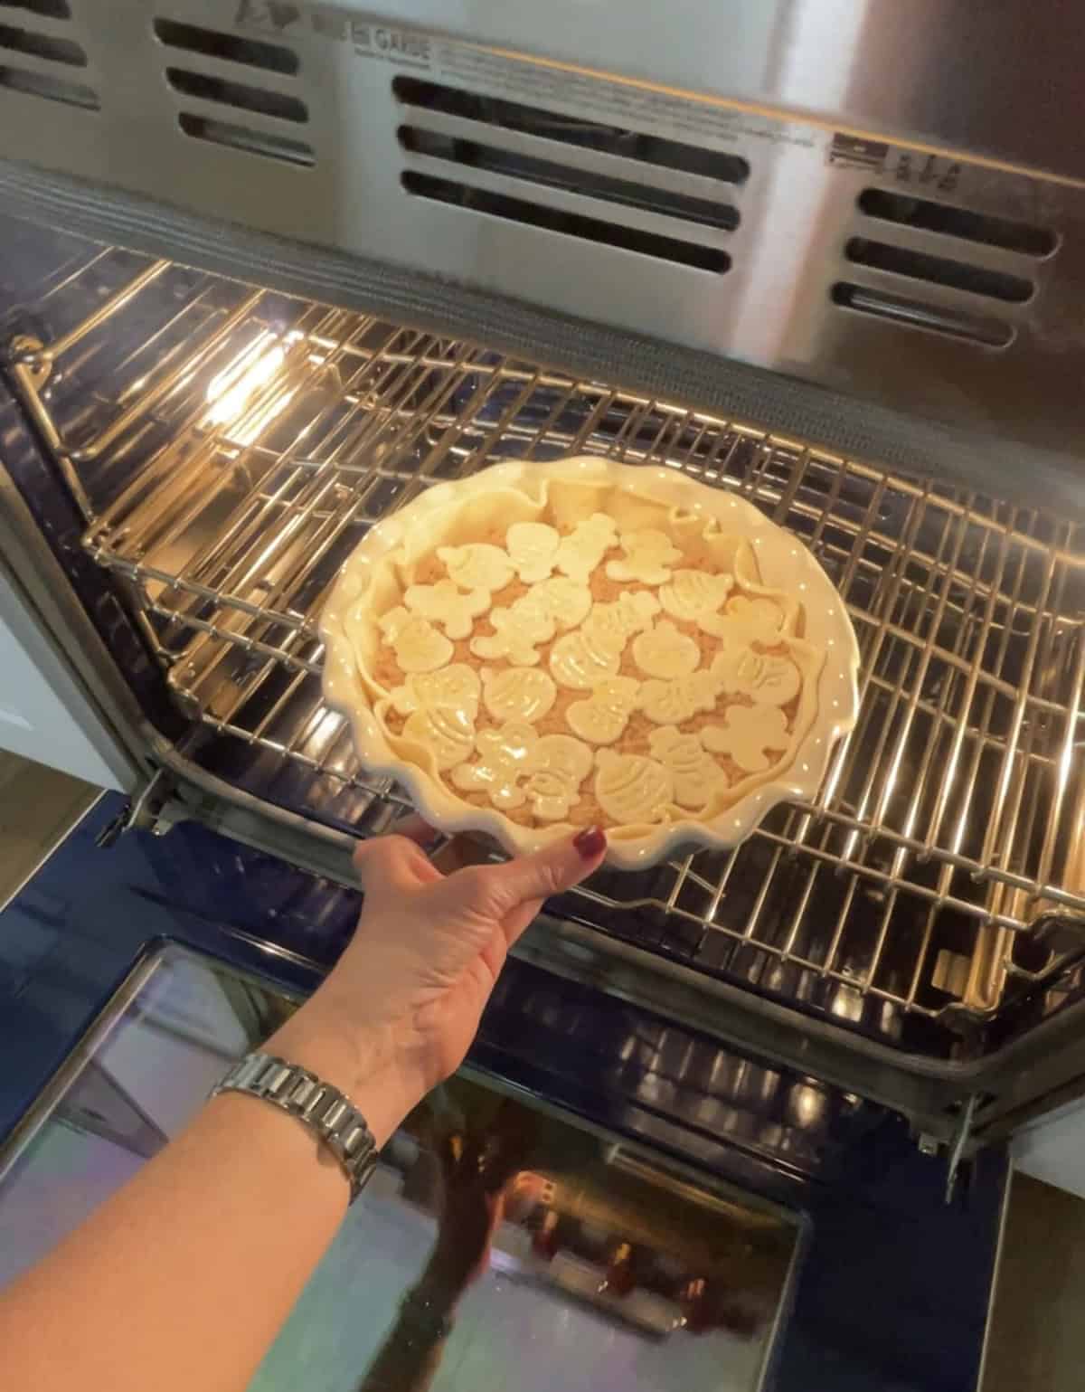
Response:
[{"label": "bare arm and hand, excluding the watch, holding the pie dish", "polygon": [[[410,832],[433,839],[423,824]],[[595,830],[442,878],[415,839],[363,842],[355,938],[266,1051],[349,1097],[383,1146],[459,1066],[542,898],[577,884],[604,853]],[[216,1098],[0,1295],[6,1385],[242,1392],[348,1196],[338,1164],[299,1121],[250,1097]]]}]

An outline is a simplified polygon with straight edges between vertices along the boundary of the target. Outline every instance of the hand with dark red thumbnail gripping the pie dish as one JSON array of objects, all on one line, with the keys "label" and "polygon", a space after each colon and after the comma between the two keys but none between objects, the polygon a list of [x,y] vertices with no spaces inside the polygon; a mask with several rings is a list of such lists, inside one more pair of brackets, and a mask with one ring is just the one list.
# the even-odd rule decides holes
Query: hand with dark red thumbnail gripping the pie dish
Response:
[{"label": "hand with dark red thumbnail gripping the pie dish", "polygon": [[363,841],[353,938],[268,1048],[346,1093],[378,1146],[463,1062],[505,956],[542,906],[598,869],[597,828],[504,864],[442,876],[416,817]]}]

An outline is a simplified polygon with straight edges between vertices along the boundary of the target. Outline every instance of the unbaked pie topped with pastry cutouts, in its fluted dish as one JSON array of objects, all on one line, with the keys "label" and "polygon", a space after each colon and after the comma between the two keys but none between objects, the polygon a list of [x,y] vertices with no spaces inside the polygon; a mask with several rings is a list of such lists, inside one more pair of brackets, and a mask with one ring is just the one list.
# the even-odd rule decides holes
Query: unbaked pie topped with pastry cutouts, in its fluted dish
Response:
[{"label": "unbaked pie topped with pastry cutouts, in its fluted dish", "polygon": [[758,816],[812,796],[855,717],[854,635],[794,537],[594,457],[431,489],[366,536],[323,629],[363,763],[512,848],[586,825],[733,844],[758,792]]}]

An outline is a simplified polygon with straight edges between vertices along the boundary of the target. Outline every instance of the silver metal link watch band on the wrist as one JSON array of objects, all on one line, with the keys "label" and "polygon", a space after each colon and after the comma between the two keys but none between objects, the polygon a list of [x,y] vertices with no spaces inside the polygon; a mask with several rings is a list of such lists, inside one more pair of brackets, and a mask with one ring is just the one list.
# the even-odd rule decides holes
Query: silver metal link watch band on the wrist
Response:
[{"label": "silver metal link watch band on the wrist", "polygon": [[342,1165],[351,1180],[351,1203],[362,1193],[377,1164],[377,1143],[362,1112],[338,1087],[271,1054],[246,1054],[211,1089],[211,1097],[220,1093],[260,1097],[305,1122]]}]

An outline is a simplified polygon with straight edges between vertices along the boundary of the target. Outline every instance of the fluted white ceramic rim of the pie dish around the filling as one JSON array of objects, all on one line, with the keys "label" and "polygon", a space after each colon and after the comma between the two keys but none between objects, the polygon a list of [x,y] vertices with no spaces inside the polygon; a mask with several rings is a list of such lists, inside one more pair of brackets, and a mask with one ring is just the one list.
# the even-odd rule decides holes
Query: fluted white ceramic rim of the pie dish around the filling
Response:
[{"label": "fluted white ceramic rim of the pie dish around the filling", "polygon": [[[363,768],[399,782],[419,813],[449,835],[480,832],[497,839],[511,853],[524,853],[569,834],[568,824],[524,827],[495,809],[476,806],[458,796],[440,777],[396,753],[374,713],[374,692],[367,689],[359,671],[356,628],[355,639],[348,632],[348,615],[364,612],[360,606],[373,604],[377,611],[385,611],[389,599],[381,592],[387,587],[388,567],[381,562],[391,553],[405,546],[417,550],[420,537],[445,536],[449,518],[462,516],[465,508],[470,515],[472,508],[487,507],[487,496],[494,493],[512,490],[506,503],[523,501],[529,508],[541,505],[552,482],[559,487],[566,483],[583,486],[586,498],[616,489],[633,500],[677,509],[673,515],[682,516],[687,525],[700,525],[704,519],[707,526],[747,540],[761,585],[800,600],[803,639],[825,654],[817,678],[817,707],[807,714],[807,728],[786,767],[765,777],[711,820],[682,814],[665,825],[608,830],[608,863],[640,869],[673,855],[679,848],[734,846],[776,803],[815,798],[833,745],[858,718],[858,646],[832,582],[796,537],[734,494],[709,489],[677,470],[615,464],[595,455],[549,464],[492,465],[467,479],[433,486],[366,533],[345,564],[320,624],[326,644],[324,697],[349,718]],[[595,494],[594,489],[600,493]],[[513,498],[513,494],[522,498]]]}]

